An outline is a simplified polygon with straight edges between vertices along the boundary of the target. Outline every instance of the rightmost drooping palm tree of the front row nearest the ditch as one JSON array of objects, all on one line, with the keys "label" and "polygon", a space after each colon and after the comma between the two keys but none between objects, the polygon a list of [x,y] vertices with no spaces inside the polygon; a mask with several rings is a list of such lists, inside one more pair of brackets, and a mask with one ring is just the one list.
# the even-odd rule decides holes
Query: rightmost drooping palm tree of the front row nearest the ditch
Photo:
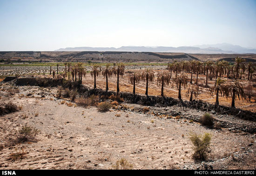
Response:
[{"label": "rightmost drooping palm tree of the front row nearest the ditch", "polygon": [[[232,101],[231,101],[231,107],[235,108],[235,100],[236,97],[238,97],[238,99],[240,100],[240,97],[242,97],[243,99],[246,99],[246,95],[243,91],[243,85],[239,82],[239,80],[236,80],[236,82],[234,82],[233,84],[229,85],[229,89],[228,89],[228,93],[230,92],[231,96],[232,96]],[[227,95],[228,96],[228,95]]]}]

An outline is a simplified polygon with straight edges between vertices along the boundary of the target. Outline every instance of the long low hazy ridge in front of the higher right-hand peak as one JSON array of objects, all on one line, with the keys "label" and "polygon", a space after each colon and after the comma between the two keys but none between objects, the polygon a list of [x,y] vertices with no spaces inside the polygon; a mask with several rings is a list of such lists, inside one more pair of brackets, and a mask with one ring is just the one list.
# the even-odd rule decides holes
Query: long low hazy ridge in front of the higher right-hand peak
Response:
[{"label": "long low hazy ridge in front of the higher right-hand peak", "polygon": [[75,47],[75,48],[61,48],[55,51],[126,51],[126,52],[182,52],[191,54],[231,54],[233,51],[225,51],[215,47],[199,48],[193,46],[181,47],[145,47],[145,46],[122,46],[120,48],[94,48],[94,47]]}]

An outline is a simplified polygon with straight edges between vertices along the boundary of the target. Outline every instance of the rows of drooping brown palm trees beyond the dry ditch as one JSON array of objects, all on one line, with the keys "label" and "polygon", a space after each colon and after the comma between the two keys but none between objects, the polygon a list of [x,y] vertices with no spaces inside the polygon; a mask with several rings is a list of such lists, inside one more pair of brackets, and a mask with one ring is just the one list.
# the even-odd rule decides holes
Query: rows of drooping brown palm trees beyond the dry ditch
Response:
[{"label": "rows of drooping brown palm trees beyond the dry ditch", "polygon": [[[164,96],[163,90],[164,86],[169,85],[171,83],[171,80],[173,79],[173,84],[175,83],[177,86],[177,89],[179,90],[178,98],[182,99],[181,96],[181,87],[184,86],[186,88],[188,86],[189,78],[186,73],[190,73],[190,83],[192,83],[192,77],[193,74],[196,74],[196,81],[195,85],[191,86],[186,96],[190,96],[190,101],[193,100],[194,97],[197,97],[200,94],[200,89],[198,87],[198,75],[204,74],[206,75],[206,82],[205,82],[205,88],[209,88],[208,85],[208,74],[212,74],[216,76],[216,82],[215,85],[209,88],[210,94],[213,96],[213,94],[216,94],[216,106],[219,105],[219,93],[221,93],[221,96],[229,97],[229,94],[231,94],[232,97],[232,103],[231,107],[235,107],[235,100],[236,97],[240,97],[242,99],[245,99],[245,93],[243,91],[242,84],[237,81],[238,79],[242,78],[242,75],[246,70],[248,70],[248,80],[251,79],[252,74],[256,70],[256,66],[252,63],[244,63],[245,60],[240,57],[236,57],[234,65],[230,65],[227,61],[217,61],[214,63],[213,61],[181,61],[181,62],[173,62],[168,64],[167,70],[163,70],[160,73],[157,73],[157,85],[161,85],[161,96]],[[78,75],[78,81],[81,81],[82,75],[86,76],[87,70],[82,66],[82,63],[76,63],[72,65],[71,63],[65,63],[65,74],[64,77],[68,77],[68,79],[71,79],[73,81],[77,81],[77,75]],[[58,74],[58,66],[57,65],[57,74]],[[92,78],[94,78],[94,88],[96,88],[96,77],[99,77],[102,75],[104,79],[106,79],[106,92],[108,91],[108,78],[111,77],[113,74],[117,76],[117,88],[116,88],[116,94],[118,95],[120,92],[119,89],[119,78],[124,75],[125,66],[123,63],[115,63],[113,67],[111,67],[111,64],[108,63],[104,68],[101,68],[101,66],[94,64],[91,66],[90,74]],[[172,78],[172,72],[175,73],[175,78]],[[222,79],[224,75],[227,75],[227,78],[231,78],[233,75],[234,78],[236,78],[236,82],[234,84],[226,84],[225,80]],[[128,77],[129,82],[133,84],[133,94],[135,94],[135,85],[139,84],[141,81],[146,82],[146,92],[145,94],[148,96],[148,83],[153,82],[155,79],[155,73],[150,68],[145,68],[142,73],[139,71],[134,71],[132,74]]]}]

